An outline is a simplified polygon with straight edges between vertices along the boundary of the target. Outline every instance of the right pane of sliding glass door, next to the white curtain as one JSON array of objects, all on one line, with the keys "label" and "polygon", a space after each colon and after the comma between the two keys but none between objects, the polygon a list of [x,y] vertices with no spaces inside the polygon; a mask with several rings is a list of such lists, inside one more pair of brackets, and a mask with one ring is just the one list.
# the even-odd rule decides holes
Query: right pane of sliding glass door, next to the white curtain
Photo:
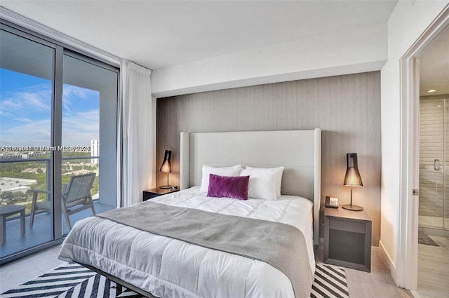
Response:
[{"label": "right pane of sliding glass door, next to the white curtain", "polygon": [[[95,172],[95,211],[116,208],[116,104],[111,102],[117,101],[118,73],[76,53],[65,53],[62,73],[62,185],[73,176]],[[91,212],[75,212],[69,222],[64,219],[62,233]]]}]

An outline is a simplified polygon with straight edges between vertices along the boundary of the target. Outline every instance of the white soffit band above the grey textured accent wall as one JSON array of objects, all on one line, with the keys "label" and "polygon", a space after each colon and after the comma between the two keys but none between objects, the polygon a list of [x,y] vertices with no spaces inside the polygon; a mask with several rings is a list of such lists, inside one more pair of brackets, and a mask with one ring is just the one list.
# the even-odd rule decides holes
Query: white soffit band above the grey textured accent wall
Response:
[{"label": "white soffit band above the grey textured accent wall", "polygon": [[155,97],[380,70],[387,27],[375,25],[240,51],[152,73]]}]

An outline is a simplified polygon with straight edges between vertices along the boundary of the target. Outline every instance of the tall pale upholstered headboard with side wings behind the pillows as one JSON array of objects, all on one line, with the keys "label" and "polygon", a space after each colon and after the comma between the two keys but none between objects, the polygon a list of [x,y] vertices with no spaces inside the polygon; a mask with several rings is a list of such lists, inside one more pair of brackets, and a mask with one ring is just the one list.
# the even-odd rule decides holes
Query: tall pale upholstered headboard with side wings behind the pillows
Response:
[{"label": "tall pale upholstered headboard with side wings behind the pillows", "polygon": [[314,202],[314,244],[319,241],[321,130],[181,133],[180,187],[201,184],[204,164],[283,166],[281,194]]}]

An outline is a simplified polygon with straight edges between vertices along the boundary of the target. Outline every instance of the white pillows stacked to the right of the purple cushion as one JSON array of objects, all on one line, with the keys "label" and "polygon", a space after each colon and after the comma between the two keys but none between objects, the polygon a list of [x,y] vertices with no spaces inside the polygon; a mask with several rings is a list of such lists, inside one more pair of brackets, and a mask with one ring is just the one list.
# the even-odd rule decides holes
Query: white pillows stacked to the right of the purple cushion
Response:
[{"label": "white pillows stacked to the right of the purple cushion", "polygon": [[[283,168],[282,168],[283,170]],[[276,187],[280,168],[246,168],[240,172],[241,176],[250,176],[248,186],[248,198],[264,198],[266,200],[276,200]],[[281,191],[279,191],[281,192]]]}]

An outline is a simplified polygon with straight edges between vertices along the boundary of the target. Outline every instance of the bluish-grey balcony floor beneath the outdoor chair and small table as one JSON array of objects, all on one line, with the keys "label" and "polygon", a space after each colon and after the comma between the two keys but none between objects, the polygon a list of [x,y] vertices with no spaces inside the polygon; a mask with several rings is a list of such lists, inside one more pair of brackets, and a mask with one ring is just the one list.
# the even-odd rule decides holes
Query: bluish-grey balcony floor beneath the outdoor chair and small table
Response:
[{"label": "bluish-grey balcony floor beneath the outdoor chair and small table", "polygon": [[[99,201],[94,201],[95,211],[97,213],[112,210],[115,207],[105,205]],[[82,210],[70,215],[72,226],[79,219],[83,219],[92,215],[91,209]],[[62,215],[61,215],[62,217]],[[69,232],[65,218],[62,217],[62,233]],[[51,215],[49,212],[43,212],[34,216],[34,224],[29,227],[29,215],[25,217],[25,235],[20,235],[20,217],[16,219],[6,220],[6,242],[0,245],[0,257],[6,257],[15,252],[32,248],[35,245],[46,243],[53,240],[51,238]]]}]

